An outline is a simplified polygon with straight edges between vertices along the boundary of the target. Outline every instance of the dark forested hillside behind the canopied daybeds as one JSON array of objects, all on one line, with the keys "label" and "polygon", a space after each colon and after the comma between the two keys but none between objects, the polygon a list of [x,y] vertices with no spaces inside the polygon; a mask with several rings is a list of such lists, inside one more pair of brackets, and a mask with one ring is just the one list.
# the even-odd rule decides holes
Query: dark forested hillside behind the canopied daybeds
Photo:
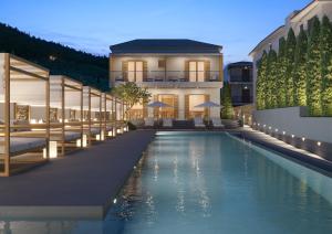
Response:
[{"label": "dark forested hillside behind the canopied daybeds", "polygon": [[0,52],[40,64],[52,75],[68,75],[84,85],[108,89],[108,59],[48,42],[0,23]]}]

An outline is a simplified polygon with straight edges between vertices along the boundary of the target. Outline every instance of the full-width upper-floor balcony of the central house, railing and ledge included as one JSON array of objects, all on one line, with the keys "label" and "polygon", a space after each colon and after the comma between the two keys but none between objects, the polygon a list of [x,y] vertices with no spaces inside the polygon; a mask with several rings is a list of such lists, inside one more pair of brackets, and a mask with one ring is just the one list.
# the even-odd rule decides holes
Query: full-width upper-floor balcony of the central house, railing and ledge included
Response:
[{"label": "full-width upper-floor balcony of the central house, railing and ledge included", "polygon": [[147,72],[111,72],[115,84],[135,82],[141,87],[221,87],[219,71],[147,71]]}]

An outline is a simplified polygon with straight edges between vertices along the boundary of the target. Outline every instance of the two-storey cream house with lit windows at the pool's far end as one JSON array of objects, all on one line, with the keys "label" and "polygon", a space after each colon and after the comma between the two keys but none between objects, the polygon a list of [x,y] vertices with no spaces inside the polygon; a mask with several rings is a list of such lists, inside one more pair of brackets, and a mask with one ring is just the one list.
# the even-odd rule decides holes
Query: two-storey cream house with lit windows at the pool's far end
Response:
[{"label": "two-storey cream house with lit windows at the pool's far end", "polygon": [[[206,100],[220,103],[221,50],[220,45],[193,40],[133,40],[112,45],[111,86],[135,82],[148,89],[152,102],[172,106],[151,109],[146,105],[135,105],[129,114],[132,119],[206,116],[206,109],[195,106]],[[219,117],[219,109],[211,108],[210,116]]]}]

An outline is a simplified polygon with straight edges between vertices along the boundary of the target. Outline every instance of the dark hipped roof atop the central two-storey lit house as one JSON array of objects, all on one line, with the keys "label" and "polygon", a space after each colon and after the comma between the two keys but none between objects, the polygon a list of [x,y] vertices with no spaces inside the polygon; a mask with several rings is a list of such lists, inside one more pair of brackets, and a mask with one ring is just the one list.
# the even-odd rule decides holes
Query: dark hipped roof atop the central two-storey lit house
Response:
[{"label": "dark hipped roof atop the central two-storey lit house", "polygon": [[112,54],[220,54],[222,46],[187,39],[137,39],[110,49]]}]

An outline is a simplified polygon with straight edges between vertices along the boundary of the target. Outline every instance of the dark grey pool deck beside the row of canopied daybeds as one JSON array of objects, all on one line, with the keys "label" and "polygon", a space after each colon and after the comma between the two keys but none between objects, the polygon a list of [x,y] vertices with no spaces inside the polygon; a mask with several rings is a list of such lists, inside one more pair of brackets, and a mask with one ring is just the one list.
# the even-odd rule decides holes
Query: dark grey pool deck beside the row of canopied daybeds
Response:
[{"label": "dark grey pool deck beside the row of canopied daybeds", "polygon": [[155,130],[136,130],[0,178],[0,219],[101,220]]}]

